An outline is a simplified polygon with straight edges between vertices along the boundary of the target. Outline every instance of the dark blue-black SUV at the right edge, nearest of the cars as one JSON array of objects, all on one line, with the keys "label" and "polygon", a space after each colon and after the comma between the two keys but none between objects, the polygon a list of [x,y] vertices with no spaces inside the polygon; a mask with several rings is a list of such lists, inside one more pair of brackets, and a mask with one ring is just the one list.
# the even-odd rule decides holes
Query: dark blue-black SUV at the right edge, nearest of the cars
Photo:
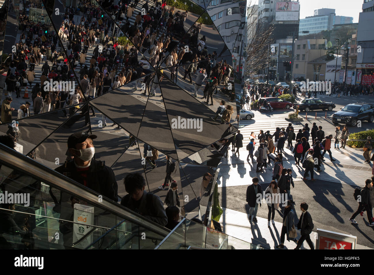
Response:
[{"label": "dark blue-black SUV at the right edge, nearest of the cars", "polygon": [[344,123],[356,126],[358,120],[374,120],[374,106],[370,103],[352,103],[344,106],[332,115],[332,123]]}]

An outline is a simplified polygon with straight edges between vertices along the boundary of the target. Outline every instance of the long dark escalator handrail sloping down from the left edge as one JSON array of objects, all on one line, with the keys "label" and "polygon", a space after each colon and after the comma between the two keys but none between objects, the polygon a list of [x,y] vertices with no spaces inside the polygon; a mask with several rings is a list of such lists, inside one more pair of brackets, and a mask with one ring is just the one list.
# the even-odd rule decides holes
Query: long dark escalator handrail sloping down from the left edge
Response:
[{"label": "long dark escalator handrail sloping down from the left edge", "polygon": [[[0,143],[0,159],[5,160],[4,163],[7,166],[12,166],[12,168],[20,169],[27,172],[30,175],[33,175],[39,178],[42,181],[47,181],[59,189],[69,192],[72,194],[79,194],[79,197],[84,199],[86,202],[94,206],[98,206],[102,209],[107,210],[109,213],[112,213],[116,216],[119,216],[122,219],[126,219],[132,223],[135,223],[145,229],[151,230],[159,235],[166,236],[170,232],[166,227],[161,226],[160,224],[155,223],[149,219],[144,218],[138,213],[123,207],[122,205],[111,201],[110,199],[103,196],[102,202],[98,202],[98,193],[88,189],[88,187],[82,186],[82,184],[73,181],[71,178],[68,178],[49,167],[40,164],[34,161],[31,158],[28,158],[21,153],[4,146]],[[52,186],[53,187],[53,186]]]}]

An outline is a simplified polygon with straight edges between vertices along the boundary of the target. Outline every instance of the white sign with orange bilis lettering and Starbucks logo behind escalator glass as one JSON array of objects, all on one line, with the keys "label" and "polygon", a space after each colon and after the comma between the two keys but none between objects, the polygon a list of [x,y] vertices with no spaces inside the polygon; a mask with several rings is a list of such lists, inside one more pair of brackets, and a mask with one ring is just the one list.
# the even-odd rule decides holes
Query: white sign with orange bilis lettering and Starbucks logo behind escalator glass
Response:
[{"label": "white sign with orange bilis lettering and Starbucks logo behind escalator glass", "polygon": [[[88,224],[93,224],[93,210],[94,207],[88,205],[74,204],[74,221],[79,223],[73,224],[73,243],[84,238],[85,235],[91,230],[91,226]],[[90,235],[75,247],[84,249],[92,242],[93,235]]]}]

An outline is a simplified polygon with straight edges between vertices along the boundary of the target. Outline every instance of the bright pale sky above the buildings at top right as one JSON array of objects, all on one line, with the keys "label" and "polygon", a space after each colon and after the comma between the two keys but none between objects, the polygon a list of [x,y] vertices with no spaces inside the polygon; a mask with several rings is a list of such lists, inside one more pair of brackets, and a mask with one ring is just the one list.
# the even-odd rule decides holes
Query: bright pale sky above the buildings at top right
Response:
[{"label": "bright pale sky above the buildings at top right", "polygon": [[[247,0],[247,4],[258,4],[258,0]],[[359,13],[362,12],[363,0],[299,0],[300,19],[313,16],[315,9],[335,9],[335,14],[353,17],[353,23],[358,23]]]}]

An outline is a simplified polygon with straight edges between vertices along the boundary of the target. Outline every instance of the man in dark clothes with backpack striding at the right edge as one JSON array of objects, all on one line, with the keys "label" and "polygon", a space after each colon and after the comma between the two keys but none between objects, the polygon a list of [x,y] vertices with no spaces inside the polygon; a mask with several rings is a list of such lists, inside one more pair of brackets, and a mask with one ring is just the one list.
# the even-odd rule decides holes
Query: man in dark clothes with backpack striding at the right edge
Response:
[{"label": "man in dark clothes with backpack striding at the right edge", "polygon": [[353,213],[352,217],[350,217],[349,221],[353,224],[357,224],[355,221],[355,217],[361,213],[362,211],[366,210],[368,215],[368,222],[369,226],[374,226],[373,221],[373,205],[374,205],[374,187],[373,187],[373,180],[374,176],[370,179],[365,180],[365,187],[360,190],[361,198],[358,199],[358,208],[355,213]]}]

